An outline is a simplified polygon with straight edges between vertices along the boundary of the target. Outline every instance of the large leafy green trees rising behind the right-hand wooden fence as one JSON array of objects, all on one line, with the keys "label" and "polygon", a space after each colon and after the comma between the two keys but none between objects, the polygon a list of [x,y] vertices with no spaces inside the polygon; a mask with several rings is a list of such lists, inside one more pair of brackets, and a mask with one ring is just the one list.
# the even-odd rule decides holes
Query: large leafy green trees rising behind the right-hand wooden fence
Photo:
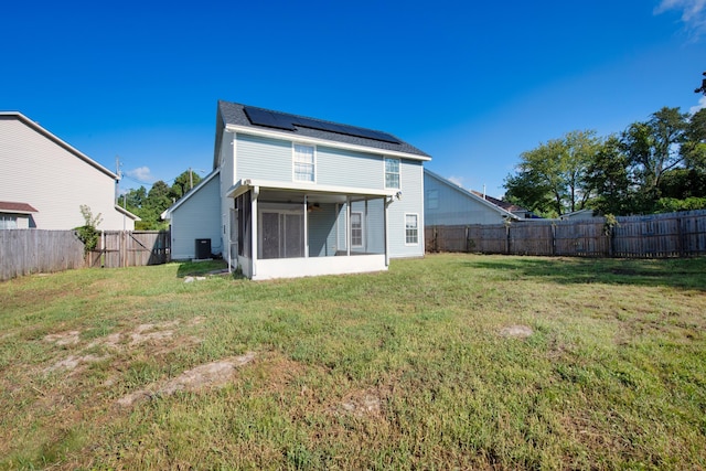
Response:
[{"label": "large leafy green trees rising behind the right-hand wooden fence", "polygon": [[542,217],[706,208],[706,108],[688,115],[663,107],[602,138],[570,131],[520,159],[505,200]]}]

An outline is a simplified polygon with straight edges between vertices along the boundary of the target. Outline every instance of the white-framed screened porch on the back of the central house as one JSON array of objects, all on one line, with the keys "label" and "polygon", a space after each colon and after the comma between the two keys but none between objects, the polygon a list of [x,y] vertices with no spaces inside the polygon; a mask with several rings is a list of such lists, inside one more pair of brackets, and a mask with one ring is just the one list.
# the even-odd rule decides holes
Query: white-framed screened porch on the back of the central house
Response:
[{"label": "white-framed screened porch on the back of the central house", "polygon": [[239,184],[231,266],[253,279],[387,269],[386,192]]}]

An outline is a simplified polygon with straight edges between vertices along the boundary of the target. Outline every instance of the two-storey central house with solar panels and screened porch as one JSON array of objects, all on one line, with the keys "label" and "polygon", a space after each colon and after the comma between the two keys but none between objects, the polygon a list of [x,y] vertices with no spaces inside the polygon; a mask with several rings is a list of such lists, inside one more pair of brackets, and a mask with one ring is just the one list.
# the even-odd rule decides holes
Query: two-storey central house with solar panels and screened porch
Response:
[{"label": "two-storey central house with solar panels and screened porch", "polygon": [[216,118],[214,172],[164,213],[172,258],[210,239],[231,267],[270,279],[424,256],[425,152],[386,132],[228,101]]}]

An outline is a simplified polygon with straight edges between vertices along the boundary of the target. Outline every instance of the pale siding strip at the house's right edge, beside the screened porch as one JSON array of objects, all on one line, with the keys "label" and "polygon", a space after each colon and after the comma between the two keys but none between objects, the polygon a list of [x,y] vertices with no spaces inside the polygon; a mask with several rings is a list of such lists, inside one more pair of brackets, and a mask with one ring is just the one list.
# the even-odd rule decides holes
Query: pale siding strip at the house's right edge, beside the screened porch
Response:
[{"label": "pale siding strip at the house's right edge, beside the screened porch", "polygon": [[[402,199],[394,200],[387,210],[389,231],[389,256],[421,257],[424,256],[424,168],[419,161],[405,160],[400,162]],[[405,215],[417,215],[418,243],[407,245],[405,231]]]}]

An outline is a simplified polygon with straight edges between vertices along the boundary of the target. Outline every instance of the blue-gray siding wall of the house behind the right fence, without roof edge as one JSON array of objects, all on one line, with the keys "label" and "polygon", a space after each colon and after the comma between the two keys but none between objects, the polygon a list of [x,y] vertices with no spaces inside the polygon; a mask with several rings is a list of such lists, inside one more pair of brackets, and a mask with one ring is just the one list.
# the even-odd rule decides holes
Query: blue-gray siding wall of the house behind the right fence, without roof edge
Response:
[{"label": "blue-gray siding wall of the house behind the right fence, without roof edge", "polygon": [[[463,192],[451,182],[425,174],[425,224],[462,225],[462,224],[500,224],[503,216],[492,207]],[[429,207],[428,194],[438,192],[438,207]]]}]

